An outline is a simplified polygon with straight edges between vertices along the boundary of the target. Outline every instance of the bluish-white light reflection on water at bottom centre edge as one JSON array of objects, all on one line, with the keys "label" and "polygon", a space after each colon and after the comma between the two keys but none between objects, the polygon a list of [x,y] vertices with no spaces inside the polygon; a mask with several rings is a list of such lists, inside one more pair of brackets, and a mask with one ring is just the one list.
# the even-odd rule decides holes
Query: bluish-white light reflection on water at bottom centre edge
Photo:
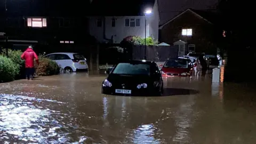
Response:
[{"label": "bluish-white light reflection on water at bottom centre edge", "polygon": [[133,143],[160,143],[154,138],[154,131],[153,124],[139,126],[133,131]]}]

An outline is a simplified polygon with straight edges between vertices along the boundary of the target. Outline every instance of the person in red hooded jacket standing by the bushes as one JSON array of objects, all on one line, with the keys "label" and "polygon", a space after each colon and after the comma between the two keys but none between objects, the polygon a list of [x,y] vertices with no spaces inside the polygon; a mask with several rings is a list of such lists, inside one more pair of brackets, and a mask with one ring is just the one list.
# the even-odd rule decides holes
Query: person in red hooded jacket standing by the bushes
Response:
[{"label": "person in red hooded jacket standing by the bushes", "polygon": [[32,46],[28,46],[28,49],[21,54],[21,59],[25,60],[26,76],[28,80],[30,78],[33,79],[34,71],[35,71],[34,59],[36,59],[37,65],[39,64],[39,61],[36,53],[33,51]]}]

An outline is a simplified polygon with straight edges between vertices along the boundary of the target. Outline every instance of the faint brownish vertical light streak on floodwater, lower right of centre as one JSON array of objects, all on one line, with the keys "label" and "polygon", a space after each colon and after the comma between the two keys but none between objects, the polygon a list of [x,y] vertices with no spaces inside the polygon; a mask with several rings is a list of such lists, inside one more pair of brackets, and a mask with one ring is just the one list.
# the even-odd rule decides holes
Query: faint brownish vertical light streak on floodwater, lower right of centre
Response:
[{"label": "faint brownish vertical light streak on floodwater, lower right of centre", "polygon": [[186,103],[180,106],[179,111],[175,114],[175,124],[177,126],[177,132],[174,135],[173,141],[175,142],[189,142],[190,138],[188,135],[188,128],[191,127],[193,118],[193,109],[194,101]]}]

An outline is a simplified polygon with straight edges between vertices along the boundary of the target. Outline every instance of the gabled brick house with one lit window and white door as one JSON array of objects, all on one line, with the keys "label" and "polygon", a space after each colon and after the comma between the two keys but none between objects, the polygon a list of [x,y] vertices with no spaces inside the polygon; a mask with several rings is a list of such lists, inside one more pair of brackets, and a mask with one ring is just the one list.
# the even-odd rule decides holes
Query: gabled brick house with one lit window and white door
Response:
[{"label": "gabled brick house with one lit window and white door", "polygon": [[179,55],[188,52],[216,53],[219,29],[218,13],[187,9],[159,27],[160,42],[179,48]]}]

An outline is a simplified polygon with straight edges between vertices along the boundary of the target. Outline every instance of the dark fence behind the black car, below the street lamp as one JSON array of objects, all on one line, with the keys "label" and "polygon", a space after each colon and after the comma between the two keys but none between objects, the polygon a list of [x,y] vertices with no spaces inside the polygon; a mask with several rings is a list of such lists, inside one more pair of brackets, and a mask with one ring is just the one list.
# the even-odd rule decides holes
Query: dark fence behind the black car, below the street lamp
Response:
[{"label": "dark fence behind the black car, below the street lamp", "polygon": [[[178,49],[173,46],[146,46],[146,58],[150,61],[165,61],[169,58],[178,57]],[[142,60],[145,59],[145,46],[133,45],[132,47],[132,59]]]}]

